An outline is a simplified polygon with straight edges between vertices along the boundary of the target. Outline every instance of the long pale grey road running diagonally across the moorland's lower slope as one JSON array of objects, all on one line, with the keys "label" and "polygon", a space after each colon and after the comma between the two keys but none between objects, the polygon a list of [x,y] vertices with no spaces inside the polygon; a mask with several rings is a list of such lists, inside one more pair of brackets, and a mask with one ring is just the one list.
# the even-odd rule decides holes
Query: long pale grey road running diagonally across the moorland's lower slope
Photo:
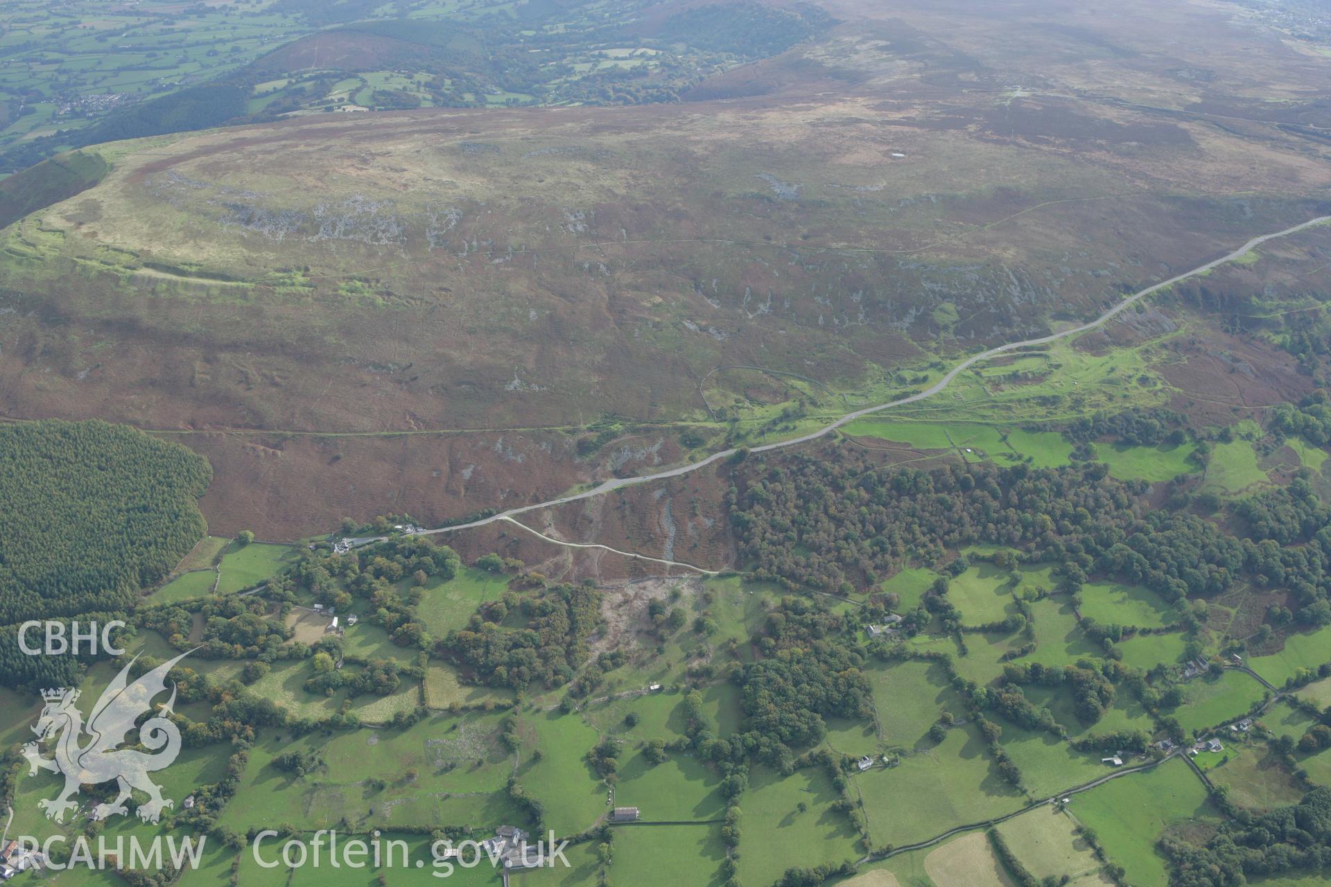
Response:
[{"label": "long pale grey road running diagonally across the moorland's lower slope", "polygon": [[[1207,262],[1206,265],[1199,265],[1198,267],[1193,269],[1191,271],[1185,271],[1183,274],[1178,274],[1175,277],[1171,277],[1167,281],[1161,281],[1159,283],[1149,286],[1145,290],[1134,293],[1133,295],[1127,297],[1126,299],[1123,299],[1122,302],[1119,302],[1114,307],[1109,309],[1107,311],[1105,311],[1103,314],[1101,314],[1098,318],[1095,318],[1094,320],[1091,320],[1089,323],[1083,323],[1083,324],[1081,324],[1078,327],[1071,327],[1071,328],[1063,330],[1061,332],[1051,332],[1050,335],[1037,336],[1034,339],[1022,339],[1021,342],[1010,342],[1008,344],[1000,344],[998,347],[989,348],[988,351],[981,351],[980,354],[974,354],[974,355],[966,358],[965,360],[962,360],[961,363],[958,363],[957,366],[954,366],[952,370],[949,370],[946,372],[946,375],[944,375],[941,379],[938,379],[936,383],[933,383],[933,386],[930,386],[929,388],[925,388],[924,391],[920,391],[918,394],[913,394],[913,395],[909,395],[906,398],[898,398],[897,400],[889,400],[888,403],[880,403],[880,404],[877,404],[874,407],[865,407],[864,410],[856,410],[855,412],[848,412],[844,416],[841,416],[840,419],[837,419],[836,422],[832,422],[831,424],[827,424],[827,426],[824,426],[823,428],[820,428],[817,431],[812,431],[812,432],[809,432],[807,435],[803,435],[800,438],[791,438],[789,440],[780,440],[777,443],[763,444],[761,447],[752,447],[749,449],[749,452],[768,452],[768,451],[772,451],[772,449],[780,449],[783,447],[796,447],[799,444],[808,443],[811,440],[817,440],[819,438],[829,435],[833,431],[836,431],[837,428],[841,428],[843,426],[847,426],[847,424],[855,422],[856,419],[860,419],[861,416],[868,416],[868,415],[872,415],[874,412],[881,412],[882,410],[890,410],[892,407],[901,407],[901,406],[905,406],[908,403],[916,403],[917,400],[924,400],[926,398],[932,398],[933,395],[936,395],[940,391],[942,391],[944,388],[946,388],[952,383],[952,380],[956,379],[958,375],[961,375],[962,372],[965,372],[970,367],[976,366],[977,363],[981,363],[982,360],[988,360],[990,358],[998,356],[1000,354],[1006,354],[1009,351],[1016,351],[1018,348],[1026,348],[1026,347],[1037,346],[1037,344],[1049,344],[1050,342],[1057,342],[1059,339],[1066,339],[1069,336],[1077,336],[1077,335],[1081,335],[1082,332],[1089,332],[1091,330],[1095,330],[1095,328],[1103,326],[1105,323],[1107,323],[1109,320],[1114,319],[1115,317],[1118,317],[1119,314],[1122,314],[1123,311],[1126,311],[1131,306],[1137,305],[1138,302],[1141,302],[1146,297],[1151,295],[1153,293],[1158,293],[1158,291],[1161,291],[1163,289],[1174,286],[1175,283],[1186,281],[1186,279],[1189,279],[1191,277],[1197,277],[1198,274],[1206,274],[1207,271],[1210,271],[1213,269],[1217,269],[1221,265],[1225,265],[1226,262],[1233,262],[1234,259],[1236,259],[1236,258],[1247,254],[1248,251],[1256,249],[1258,246],[1262,246],[1267,241],[1274,241],[1274,239],[1280,238],[1280,237],[1288,237],[1290,234],[1298,234],[1299,231],[1303,231],[1306,229],[1314,227],[1316,225],[1323,225],[1323,223],[1327,223],[1327,222],[1331,222],[1331,215],[1319,215],[1319,217],[1308,219],[1307,222],[1303,222],[1300,225],[1295,225],[1294,227],[1287,227],[1283,231],[1275,231],[1274,234],[1263,234],[1260,237],[1254,237],[1251,241],[1248,241],[1243,246],[1238,247],[1236,250],[1234,250],[1231,253],[1226,253],[1225,255],[1222,255],[1218,259],[1213,259],[1213,261]],[[422,531],[419,535],[422,535],[422,536],[431,536],[431,535],[435,535],[435,533],[455,533],[455,532],[462,531],[462,529],[475,529],[476,527],[486,527],[487,524],[494,524],[494,523],[500,521],[500,520],[508,520],[508,521],[512,521],[512,523],[518,523],[518,521],[512,520],[515,515],[523,515],[523,513],[530,512],[530,511],[540,511],[542,508],[552,508],[555,505],[567,505],[568,503],[580,501],[583,499],[592,499],[594,496],[603,496],[603,495],[606,495],[608,492],[614,492],[616,489],[623,489],[624,487],[634,487],[636,484],[646,484],[646,483],[651,483],[654,480],[668,480],[671,477],[679,477],[681,475],[687,475],[687,473],[697,471],[700,468],[705,468],[707,465],[711,465],[711,464],[713,464],[716,461],[720,461],[723,459],[728,459],[729,456],[735,455],[735,452],[737,452],[735,448],[723,449],[720,452],[713,452],[711,456],[708,456],[705,459],[701,459],[699,461],[692,461],[692,463],[688,463],[688,464],[684,464],[684,465],[676,465],[675,468],[667,468],[664,471],[658,471],[658,472],[654,472],[654,473],[650,473],[650,475],[639,475],[636,477],[615,477],[615,479],[611,479],[611,480],[602,481],[600,484],[592,487],[591,489],[584,489],[584,491],[578,492],[578,493],[570,493],[567,496],[559,496],[558,499],[551,499],[551,500],[543,501],[543,503],[535,503],[532,505],[520,505],[518,508],[510,508],[507,511],[502,511],[502,512],[490,515],[488,517],[480,517],[478,520],[467,521],[465,524],[453,524],[451,527],[439,527],[437,529],[426,529],[426,531]],[[526,524],[519,524],[519,525],[526,528]],[[530,529],[530,528],[527,528],[527,529]],[[555,540],[551,540],[551,541],[555,541]]]}]

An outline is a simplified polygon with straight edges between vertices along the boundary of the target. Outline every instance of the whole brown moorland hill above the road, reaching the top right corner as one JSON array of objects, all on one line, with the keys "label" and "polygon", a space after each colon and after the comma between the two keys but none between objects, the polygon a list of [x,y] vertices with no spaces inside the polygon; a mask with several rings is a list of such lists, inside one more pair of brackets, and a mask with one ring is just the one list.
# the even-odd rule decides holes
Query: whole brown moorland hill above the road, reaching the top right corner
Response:
[{"label": "whole brown moorland hill above the road, reaching the top right corner", "polygon": [[[0,231],[0,402],[273,432],[190,439],[272,491],[246,524],[329,472],[442,519],[888,400],[1326,211],[1326,63],[1236,7],[827,8],[680,104],[88,149],[100,184]],[[435,431],[475,434],[284,436]]]}]

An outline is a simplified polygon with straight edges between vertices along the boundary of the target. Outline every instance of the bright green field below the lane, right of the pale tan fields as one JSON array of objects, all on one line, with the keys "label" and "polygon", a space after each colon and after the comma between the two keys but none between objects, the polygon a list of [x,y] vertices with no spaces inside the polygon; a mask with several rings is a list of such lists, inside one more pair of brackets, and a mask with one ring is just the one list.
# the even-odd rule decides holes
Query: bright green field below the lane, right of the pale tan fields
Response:
[{"label": "bright green field below the lane, right of the pale tan fields", "polygon": [[1166,859],[1155,848],[1167,828],[1221,818],[1202,781],[1178,759],[1074,795],[1067,810],[1095,831],[1110,860],[1127,872],[1130,884],[1169,882]]}]

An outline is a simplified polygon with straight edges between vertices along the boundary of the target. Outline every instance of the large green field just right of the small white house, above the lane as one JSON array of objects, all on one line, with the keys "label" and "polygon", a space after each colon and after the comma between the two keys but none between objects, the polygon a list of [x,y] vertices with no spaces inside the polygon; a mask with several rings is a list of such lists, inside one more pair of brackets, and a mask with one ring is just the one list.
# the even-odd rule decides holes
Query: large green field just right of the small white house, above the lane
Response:
[{"label": "large green field just right of the small white house, above the lane", "polygon": [[952,727],[941,743],[904,755],[896,767],[857,774],[852,785],[864,799],[874,846],[924,840],[1026,803],[990,766],[973,725]]}]

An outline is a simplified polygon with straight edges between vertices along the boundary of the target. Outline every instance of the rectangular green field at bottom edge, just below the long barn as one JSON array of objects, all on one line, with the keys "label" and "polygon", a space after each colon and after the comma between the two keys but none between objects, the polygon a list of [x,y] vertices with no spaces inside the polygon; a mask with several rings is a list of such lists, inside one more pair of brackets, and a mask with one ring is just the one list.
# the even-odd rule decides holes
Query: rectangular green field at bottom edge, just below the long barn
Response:
[{"label": "rectangular green field at bottom edge, just below the long barn", "polygon": [[612,884],[720,887],[720,826],[623,826],[614,831]]}]

